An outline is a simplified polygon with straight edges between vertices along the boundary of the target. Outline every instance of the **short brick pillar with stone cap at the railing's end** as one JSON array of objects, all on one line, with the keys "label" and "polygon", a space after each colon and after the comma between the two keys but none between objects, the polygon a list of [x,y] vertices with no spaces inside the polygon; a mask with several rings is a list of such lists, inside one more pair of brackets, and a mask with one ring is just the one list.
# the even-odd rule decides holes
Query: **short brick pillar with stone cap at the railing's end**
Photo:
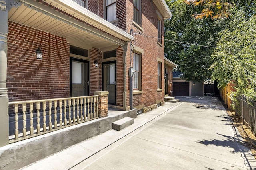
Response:
[{"label": "short brick pillar with stone cap at the railing's end", "polygon": [[100,117],[108,116],[108,92],[94,92],[94,95],[99,95],[98,111]]}]

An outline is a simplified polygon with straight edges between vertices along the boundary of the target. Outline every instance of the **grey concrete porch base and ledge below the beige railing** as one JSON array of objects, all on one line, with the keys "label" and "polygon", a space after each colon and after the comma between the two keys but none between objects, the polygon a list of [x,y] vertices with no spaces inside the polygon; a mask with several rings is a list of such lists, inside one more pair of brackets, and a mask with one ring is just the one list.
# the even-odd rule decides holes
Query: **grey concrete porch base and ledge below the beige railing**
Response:
[{"label": "grey concrete porch base and ledge below the beige railing", "polygon": [[[88,96],[88,98],[91,97]],[[54,130],[53,125],[50,133],[44,133],[43,129],[41,129],[40,135],[36,135],[35,133],[32,138],[16,141],[0,147],[0,169],[22,168],[86,139],[104,133],[112,129],[112,123],[115,121],[125,117],[136,118],[137,109],[122,111],[110,108],[107,109],[107,115],[107,117],[92,117],[92,119],[90,117],[84,117],[83,121],[79,117],[79,121],[75,123],[71,120],[71,125],[69,125],[68,121],[67,126],[64,125],[63,121],[63,126],[60,127],[58,123],[56,130]]]}]

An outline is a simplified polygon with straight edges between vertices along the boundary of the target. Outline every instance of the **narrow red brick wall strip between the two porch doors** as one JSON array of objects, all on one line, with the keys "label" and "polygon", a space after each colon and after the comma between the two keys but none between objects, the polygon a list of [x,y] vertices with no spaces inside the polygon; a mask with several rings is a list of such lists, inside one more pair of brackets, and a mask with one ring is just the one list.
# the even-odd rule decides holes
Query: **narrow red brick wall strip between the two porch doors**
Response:
[{"label": "narrow red brick wall strip between the two porch doors", "polygon": [[[94,62],[98,61],[99,67],[96,68]],[[96,49],[90,49],[90,95],[102,90],[102,53]]]}]

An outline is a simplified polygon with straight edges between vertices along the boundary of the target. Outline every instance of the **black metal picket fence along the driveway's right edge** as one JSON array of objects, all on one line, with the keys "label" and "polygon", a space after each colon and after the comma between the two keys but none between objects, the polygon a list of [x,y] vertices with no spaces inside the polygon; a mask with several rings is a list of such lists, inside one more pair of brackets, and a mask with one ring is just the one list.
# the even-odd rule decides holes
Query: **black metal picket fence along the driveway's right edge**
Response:
[{"label": "black metal picket fence along the driveway's right edge", "polygon": [[248,96],[242,95],[235,103],[236,115],[242,117],[243,125],[246,123],[252,133],[256,136],[256,101]]}]

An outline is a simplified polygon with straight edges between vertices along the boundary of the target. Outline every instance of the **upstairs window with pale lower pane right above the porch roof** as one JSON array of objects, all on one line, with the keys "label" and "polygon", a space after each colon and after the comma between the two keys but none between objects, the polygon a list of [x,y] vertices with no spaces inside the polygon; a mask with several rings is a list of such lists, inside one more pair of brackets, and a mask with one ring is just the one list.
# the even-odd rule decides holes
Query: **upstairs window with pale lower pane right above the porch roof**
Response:
[{"label": "upstairs window with pale lower pane right above the porch roof", "polygon": [[106,20],[116,20],[116,0],[106,0]]}]

